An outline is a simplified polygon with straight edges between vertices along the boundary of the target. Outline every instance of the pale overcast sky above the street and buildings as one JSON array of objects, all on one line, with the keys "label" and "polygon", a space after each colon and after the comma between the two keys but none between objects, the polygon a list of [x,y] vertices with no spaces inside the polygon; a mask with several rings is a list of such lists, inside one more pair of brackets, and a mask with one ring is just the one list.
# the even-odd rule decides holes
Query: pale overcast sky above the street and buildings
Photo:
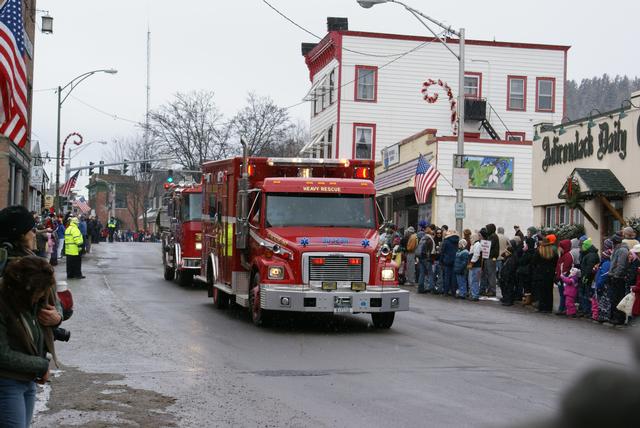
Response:
[{"label": "pale overcast sky above the street and buildings", "polygon": [[[351,30],[427,35],[399,5],[363,9],[356,0],[269,2],[320,36],[326,34],[327,16],[348,17]],[[454,28],[464,27],[469,39],[571,45],[570,79],[640,75],[638,1],[406,2]],[[310,86],[300,43],[317,39],[262,0],[38,0],[37,7],[54,17],[54,33],[36,34],[32,138],[52,156],[56,94],[50,89],[86,71],[113,67],[118,74],[94,75],[73,91],[62,108],[61,138],[79,132],[86,144],[140,132],[132,122],[143,121],[145,115],[147,26],[151,108],[176,92],[207,89],[215,91],[220,110],[232,116],[249,91],[290,106],[300,102]],[[308,124],[307,104],[290,112]],[[72,165],[97,163],[106,150],[93,144]],[[79,184],[86,182],[84,177]]]}]

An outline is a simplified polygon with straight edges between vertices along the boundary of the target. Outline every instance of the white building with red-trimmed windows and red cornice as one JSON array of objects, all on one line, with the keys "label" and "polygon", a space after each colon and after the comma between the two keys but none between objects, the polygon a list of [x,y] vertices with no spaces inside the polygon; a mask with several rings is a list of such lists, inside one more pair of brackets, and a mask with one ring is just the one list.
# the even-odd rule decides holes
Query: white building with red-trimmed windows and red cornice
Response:
[{"label": "white building with red-trimmed windows and red cornice", "polygon": [[[380,159],[381,150],[425,128],[454,135],[449,101],[429,104],[423,82],[442,80],[457,96],[458,60],[437,39],[348,31],[345,18],[328,18],[328,34],[302,44],[311,87],[307,156]],[[453,52],[457,39],[447,39]],[[533,125],[560,122],[568,46],[467,40],[465,135],[531,140]],[[482,101],[486,100],[486,104]],[[482,107],[486,115],[482,115]],[[480,110],[478,110],[480,109]],[[494,135],[482,127],[486,118]]]}]

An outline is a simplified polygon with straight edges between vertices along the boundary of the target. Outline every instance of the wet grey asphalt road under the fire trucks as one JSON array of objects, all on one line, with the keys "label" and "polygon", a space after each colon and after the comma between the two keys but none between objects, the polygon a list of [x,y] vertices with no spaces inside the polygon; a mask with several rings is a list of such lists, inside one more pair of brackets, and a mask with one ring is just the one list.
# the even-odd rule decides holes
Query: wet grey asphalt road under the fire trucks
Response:
[{"label": "wet grey asphalt road under the fire trucks", "polygon": [[[632,361],[625,330],[431,295],[412,294],[387,331],[364,315],[257,328],[204,288],[165,281],[159,244],[101,243],[83,270],[60,360],[173,397],[178,426],[510,426],[554,412],[585,368]],[[126,425],[56,400],[36,426]]]}]

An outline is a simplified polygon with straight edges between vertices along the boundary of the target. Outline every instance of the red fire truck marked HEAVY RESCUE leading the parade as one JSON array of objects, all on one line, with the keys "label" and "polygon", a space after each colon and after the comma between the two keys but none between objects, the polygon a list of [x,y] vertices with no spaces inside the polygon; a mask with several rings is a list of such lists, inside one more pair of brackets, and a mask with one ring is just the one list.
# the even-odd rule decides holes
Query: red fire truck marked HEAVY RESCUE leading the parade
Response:
[{"label": "red fire truck marked HEAVY RESCUE leading the parade", "polygon": [[[245,159],[243,161],[243,159]],[[203,171],[200,280],[214,304],[276,311],[370,313],[389,328],[409,309],[379,240],[373,161],[247,158]]]}]

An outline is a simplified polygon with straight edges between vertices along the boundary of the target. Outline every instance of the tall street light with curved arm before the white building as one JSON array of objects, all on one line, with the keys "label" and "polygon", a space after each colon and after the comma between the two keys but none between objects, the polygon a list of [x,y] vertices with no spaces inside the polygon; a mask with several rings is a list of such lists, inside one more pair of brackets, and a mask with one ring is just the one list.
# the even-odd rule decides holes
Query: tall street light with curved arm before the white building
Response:
[{"label": "tall street light with curved arm before the white building", "polygon": [[[455,31],[451,28],[451,26],[445,25],[444,23],[431,18],[430,16],[425,15],[417,9],[408,6],[407,4],[398,1],[398,0],[357,0],[358,4],[365,9],[369,9],[372,6],[381,3],[397,3],[403,6],[407,11],[409,11],[422,25],[424,25],[440,43],[444,45],[445,48],[449,52],[453,54],[458,59],[458,147],[456,150],[456,167],[462,168],[462,155],[464,154],[464,28],[460,28],[458,31]],[[456,54],[451,48],[427,25],[420,19],[420,17],[425,18],[426,20],[432,22],[438,27],[442,28],[446,33],[453,34],[454,36],[458,36],[459,43],[459,51]],[[462,189],[456,189],[456,202],[463,203],[464,195]],[[458,232],[462,232],[462,219],[456,219],[456,230]]]}]

